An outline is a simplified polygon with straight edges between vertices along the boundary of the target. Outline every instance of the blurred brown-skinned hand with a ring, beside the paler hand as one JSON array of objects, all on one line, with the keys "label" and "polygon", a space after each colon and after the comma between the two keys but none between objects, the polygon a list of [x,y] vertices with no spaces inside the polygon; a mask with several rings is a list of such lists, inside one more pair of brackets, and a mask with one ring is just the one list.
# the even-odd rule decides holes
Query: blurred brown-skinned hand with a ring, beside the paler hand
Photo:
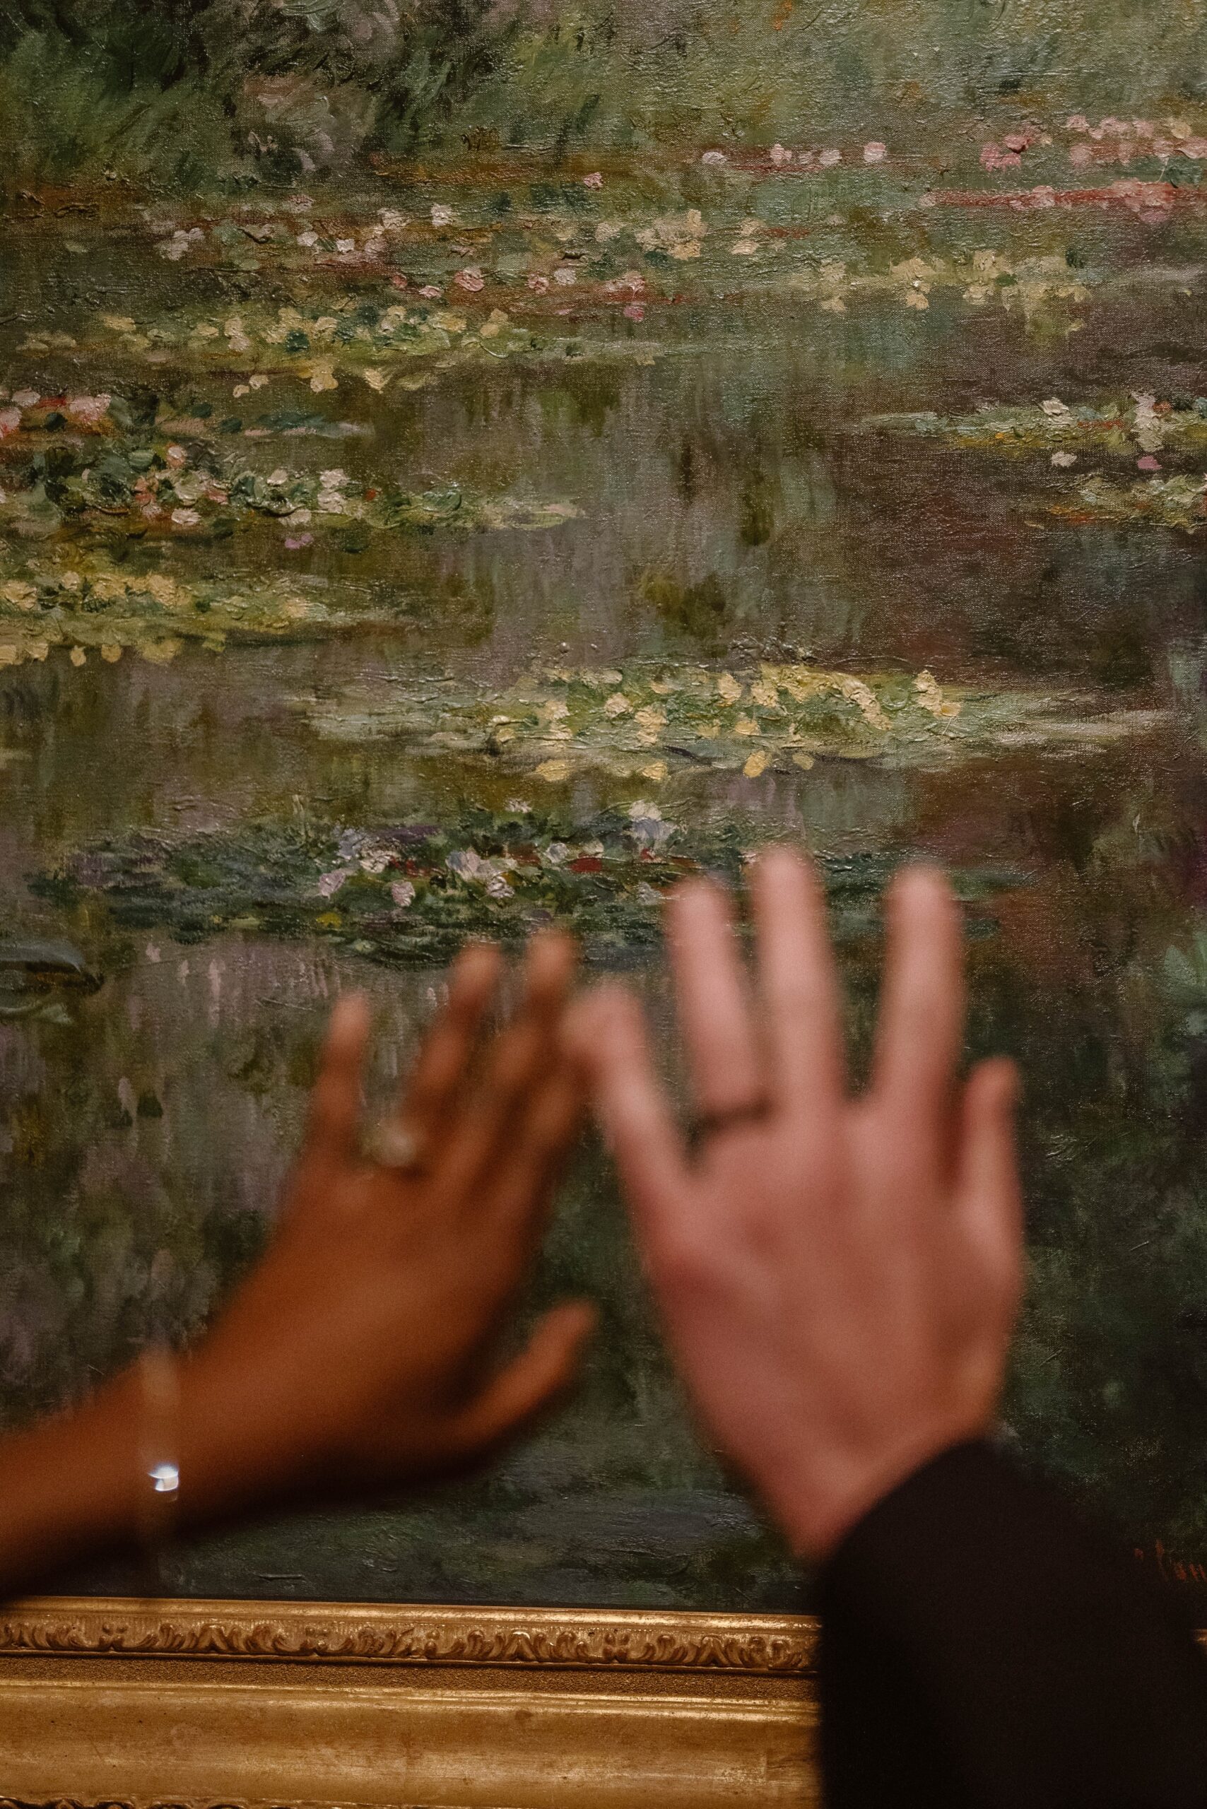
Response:
[{"label": "blurred brown-skinned hand with a ring, beside the paler hand", "polygon": [[400,1103],[420,1170],[362,1154],[362,997],[331,1015],[306,1145],[261,1266],[181,1369],[181,1511],[460,1469],[568,1384],[592,1326],[550,1312],[496,1366],[508,1306],[579,1127],[557,1053],[574,948],[530,946],[525,997],[476,1060],[499,955],[470,948]]}]

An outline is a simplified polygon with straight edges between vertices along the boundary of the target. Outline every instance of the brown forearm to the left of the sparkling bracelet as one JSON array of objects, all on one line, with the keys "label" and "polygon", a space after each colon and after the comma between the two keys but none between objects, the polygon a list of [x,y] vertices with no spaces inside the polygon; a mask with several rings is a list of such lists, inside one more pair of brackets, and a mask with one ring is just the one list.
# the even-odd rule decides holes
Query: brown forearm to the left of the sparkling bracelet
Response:
[{"label": "brown forearm to the left of the sparkling bracelet", "polygon": [[0,1597],[138,1538],[139,1377],[0,1440]]}]

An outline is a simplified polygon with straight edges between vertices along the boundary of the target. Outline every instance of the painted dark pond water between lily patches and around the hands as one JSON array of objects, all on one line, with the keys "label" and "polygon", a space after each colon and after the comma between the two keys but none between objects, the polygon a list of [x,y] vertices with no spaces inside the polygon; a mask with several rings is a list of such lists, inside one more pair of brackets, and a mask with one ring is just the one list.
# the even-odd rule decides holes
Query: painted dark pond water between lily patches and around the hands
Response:
[{"label": "painted dark pond water between lily patches and around the hands", "polygon": [[[31,317],[52,308],[67,322],[215,282],[130,244],[85,257],[29,242],[9,250],[4,280]],[[288,572],[333,599],[387,597],[398,626],[221,653],[186,644],[165,666],[127,651],[74,668],[51,649],[0,671],[5,933],[65,937],[103,973],[92,995],[0,1022],[4,1418],[87,1386],[156,1330],[197,1326],[262,1245],[331,999],[371,990],[384,1089],[442,984],[438,970],[384,968],[331,937],[136,933],[101,897],[58,906],[31,876],[134,830],[221,832],[299,812],[443,823],[467,803],[498,809],[516,778],[317,733],[318,706],[389,696],[420,673],[501,689],[534,662],[925,668],[945,687],[1041,698],[1048,715],[1035,725],[1017,713],[992,747],[919,767],[675,769],[659,807],[680,838],[738,823],[827,856],[923,852],[1008,876],[970,953],[970,1047],[1015,1053],[1026,1076],[1033,1272],[1008,1431],[1136,1545],[1202,1558],[1207,537],[1057,519],[1044,456],[1004,463],[856,431],[870,412],[1104,385],[1203,394],[1202,288],[1185,289],[1158,302],[1113,293],[1071,335],[943,297],[925,315],[876,302],[843,318],[784,295],[700,300],[673,335],[659,329],[668,349],[651,362],[480,360],[413,393],[342,382],[317,400],[275,376],[266,402],[313,402],[367,431],[246,441],[257,469],[521,488],[579,516],[545,532],[387,535],[362,552],[322,535],[290,550],[273,525],[177,541],[156,557],[181,577]],[[11,391],[138,380],[177,409],[233,407],[230,374],[134,371],[87,347],[22,353],[27,329],[4,327]],[[588,324],[588,342],[592,331],[641,338]],[[557,809],[584,821],[642,789],[584,772]],[[843,962],[858,1062],[874,914],[847,926]],[[642,959],[635,979],[666,1029],[657,964]],[[174,1586],[794,1606],[775,1538],[688,1427],[595,1147],[536,1283],[537,1299],[565,1290],[601,1299],[603,1331],[579,1398],[536,1444],[418,1505],[181,1552]]]}]

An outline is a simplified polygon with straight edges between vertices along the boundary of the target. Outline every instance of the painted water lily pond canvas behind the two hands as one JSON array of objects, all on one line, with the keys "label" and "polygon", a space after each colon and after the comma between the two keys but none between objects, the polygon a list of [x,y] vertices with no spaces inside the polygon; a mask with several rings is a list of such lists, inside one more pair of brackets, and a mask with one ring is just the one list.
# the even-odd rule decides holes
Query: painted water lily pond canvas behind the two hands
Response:
[{"label": "painted water lily pond canvas behind the two hands", "polygon": [[[255,1259],[340,990],[385,1089],[561,921],[670,1031],[668,888],[791,838],[858,1071],[923,854],[1026,1076],[1006,1436],[1207,1577],[1205,71],[1160,0],[4,9],[4,1424]],[[170,1585],[802,1603],[597,1147],[566,1290],[536,1444]]]}]

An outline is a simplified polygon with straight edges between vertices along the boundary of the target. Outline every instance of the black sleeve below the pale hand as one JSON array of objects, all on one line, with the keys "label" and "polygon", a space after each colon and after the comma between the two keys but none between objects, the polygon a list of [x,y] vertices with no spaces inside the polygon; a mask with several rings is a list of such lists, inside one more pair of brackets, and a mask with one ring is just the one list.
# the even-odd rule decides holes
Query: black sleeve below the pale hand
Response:
[{"label": "black sleeve below the pale hand", "polygon": [[1203,1809],[1207,1662],[1140,1567],[986,1444],[822,1576],[827,1809]]}]

